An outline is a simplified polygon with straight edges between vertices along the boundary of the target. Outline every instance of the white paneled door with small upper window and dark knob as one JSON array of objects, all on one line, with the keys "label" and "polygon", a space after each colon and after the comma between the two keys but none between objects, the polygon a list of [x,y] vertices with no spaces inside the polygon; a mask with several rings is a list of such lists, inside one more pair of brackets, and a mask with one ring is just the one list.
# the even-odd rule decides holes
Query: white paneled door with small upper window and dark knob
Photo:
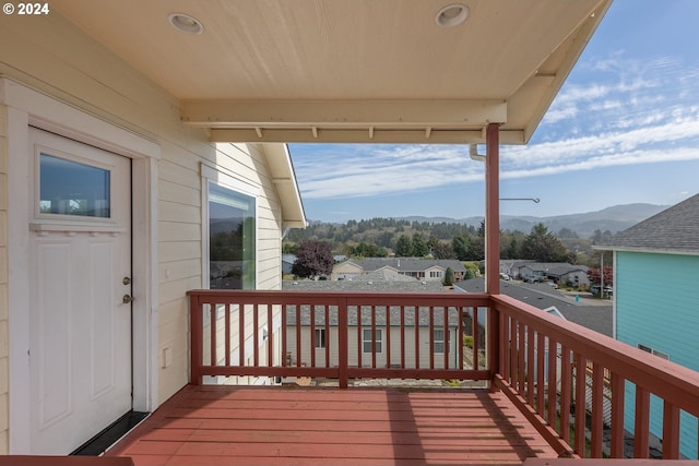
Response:
[{"label": "white paneled door with small upper window and dark knob", "polygon": [[67,454],[131,409],[131,165],[29,138],[31,450]]}]

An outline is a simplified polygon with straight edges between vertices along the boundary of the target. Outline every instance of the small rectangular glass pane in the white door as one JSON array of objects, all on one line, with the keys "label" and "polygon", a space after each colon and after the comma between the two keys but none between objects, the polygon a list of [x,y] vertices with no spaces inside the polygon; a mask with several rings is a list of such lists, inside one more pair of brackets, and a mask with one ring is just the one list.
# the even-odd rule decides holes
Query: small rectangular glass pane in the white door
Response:
[{"label": "small rectangular glass pane in the white door", "polygon": [[109,218],[110,172],[52,155],[39,157],[39,213]]}]

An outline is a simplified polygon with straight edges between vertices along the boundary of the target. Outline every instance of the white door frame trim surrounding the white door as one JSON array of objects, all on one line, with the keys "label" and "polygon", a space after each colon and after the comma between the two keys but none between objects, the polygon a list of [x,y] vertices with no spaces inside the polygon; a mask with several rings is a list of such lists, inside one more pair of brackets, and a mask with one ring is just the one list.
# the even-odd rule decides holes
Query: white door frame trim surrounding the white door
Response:
[{"label": "white door frame trim surrounding the white door", "polygon": [[157,160],[161,146],[74,106],[0,77],[0,104],[7,106],[8,264],[10,334],[11,454],[31,453],[29,318],[31,277],[27,236],[29,126],[131,159],[132,203],[132,371],[133,409],[152,411],[158,402]]}]

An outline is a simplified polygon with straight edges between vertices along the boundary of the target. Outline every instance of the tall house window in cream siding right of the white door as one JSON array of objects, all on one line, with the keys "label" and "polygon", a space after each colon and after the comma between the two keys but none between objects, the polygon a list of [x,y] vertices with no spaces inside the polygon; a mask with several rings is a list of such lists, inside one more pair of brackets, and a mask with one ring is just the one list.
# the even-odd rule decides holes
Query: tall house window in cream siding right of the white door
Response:
[{"label": "tall house window in cream siding right of the white door", "polygon": [[256,288],[256,200],[208,181],[209,287]]}]

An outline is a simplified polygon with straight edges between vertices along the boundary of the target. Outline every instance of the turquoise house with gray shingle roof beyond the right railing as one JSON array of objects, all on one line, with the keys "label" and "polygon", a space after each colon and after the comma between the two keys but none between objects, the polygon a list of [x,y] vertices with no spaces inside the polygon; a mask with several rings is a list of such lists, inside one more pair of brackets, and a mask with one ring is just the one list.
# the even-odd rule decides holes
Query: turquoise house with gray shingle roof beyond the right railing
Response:
[{"label": "turquoise house with gray shingle roof beyond the right railing", "polygon": [[[594,248],[614,253],[614,336],[699,370],[699,194]],[[626,399],[633,399],[627,384]],[[626,415],[632,431],[631,410]],[[662,406],[651,401],[651,432],[662,438]],[[696,457],[697,419],[683,414],[680,450]]]}]

